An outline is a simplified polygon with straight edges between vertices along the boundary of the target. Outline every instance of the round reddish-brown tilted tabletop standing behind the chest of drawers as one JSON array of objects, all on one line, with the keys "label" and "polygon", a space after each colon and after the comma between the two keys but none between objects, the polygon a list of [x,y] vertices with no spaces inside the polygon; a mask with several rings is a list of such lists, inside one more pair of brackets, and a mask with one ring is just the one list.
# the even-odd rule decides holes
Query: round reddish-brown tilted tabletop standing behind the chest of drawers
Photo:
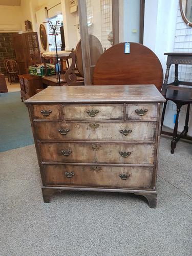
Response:
[{"label": "round reddish-brown tilted tabletop standing behind the chest of drawers", "polygon": [[130,42],[130,53],[124,53],[124,42],[106,50],[98,59],[93,84],[155,84],[160,91],[163,70],[158,57],[147,47]]}]

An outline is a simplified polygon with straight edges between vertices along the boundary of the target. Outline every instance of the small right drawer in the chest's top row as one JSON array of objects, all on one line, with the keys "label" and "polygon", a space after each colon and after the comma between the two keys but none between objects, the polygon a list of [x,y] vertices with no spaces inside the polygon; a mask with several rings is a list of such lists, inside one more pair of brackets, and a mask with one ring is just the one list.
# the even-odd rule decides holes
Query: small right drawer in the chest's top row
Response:
[{"label": "small right drawer in the chest's top row", "polygon": [[157,104],[126,104],[126,120],[157,119]]}]

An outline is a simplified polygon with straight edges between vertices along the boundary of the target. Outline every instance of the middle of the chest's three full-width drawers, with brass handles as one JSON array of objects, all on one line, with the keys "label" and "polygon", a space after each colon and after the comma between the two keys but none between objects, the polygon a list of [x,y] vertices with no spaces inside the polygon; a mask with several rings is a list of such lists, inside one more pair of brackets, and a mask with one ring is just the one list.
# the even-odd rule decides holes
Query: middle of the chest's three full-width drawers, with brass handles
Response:
[{"label": "middle of the chest's three full-width drawers, with brass handles", "polygon": [[42,162],[153,164],[154,143],[39,142]]}]

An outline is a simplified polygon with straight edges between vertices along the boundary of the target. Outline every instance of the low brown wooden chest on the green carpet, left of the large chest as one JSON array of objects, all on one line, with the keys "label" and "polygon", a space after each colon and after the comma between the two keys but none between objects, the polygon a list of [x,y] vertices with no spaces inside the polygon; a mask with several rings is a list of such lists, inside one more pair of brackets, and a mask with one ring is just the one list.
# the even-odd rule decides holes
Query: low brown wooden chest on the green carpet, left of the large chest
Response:
[{"label": "low brown wooden chest on the green carpet, left of the large chest", "polygon": [[43,89],[41,78],[33,75],[19,75],[20,82],[20,98],[22,101],[29,99],[35,95],[36,89]]}]

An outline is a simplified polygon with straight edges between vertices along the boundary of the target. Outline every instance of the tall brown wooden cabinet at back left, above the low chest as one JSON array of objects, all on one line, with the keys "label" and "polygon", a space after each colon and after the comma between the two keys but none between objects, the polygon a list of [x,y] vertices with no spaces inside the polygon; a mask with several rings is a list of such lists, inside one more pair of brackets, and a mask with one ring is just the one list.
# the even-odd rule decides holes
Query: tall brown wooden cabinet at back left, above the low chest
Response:
[{"label": "tall brown wooden cabinet at back left, above the low chest", "polygon": [[40,64],[37,32],[16,34],[13,37],[19,75],[29,73],[29,66]]}]

